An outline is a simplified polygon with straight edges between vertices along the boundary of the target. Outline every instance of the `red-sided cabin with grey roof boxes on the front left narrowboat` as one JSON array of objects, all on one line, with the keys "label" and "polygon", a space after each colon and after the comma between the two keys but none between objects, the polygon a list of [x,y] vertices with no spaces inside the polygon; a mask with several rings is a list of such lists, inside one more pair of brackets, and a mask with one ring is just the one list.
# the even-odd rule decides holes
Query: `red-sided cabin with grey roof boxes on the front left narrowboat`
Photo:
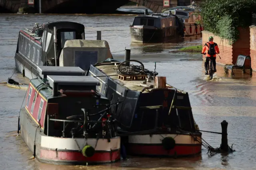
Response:
[{"label": "red-sided cabin with grey roof boxes on the front left narrowboat", "polygon": [[[42,77],[30,81],[25,109],[36,124],[40,123],[45,135],[83,137],[83,132],[71,133],[74,123],[69,120],[84,122],[85,112],[88,120],[101,121],[102,115],[92,113],[106,109],[100,105],[110,104],[110,100],[96,92],[98,80],[84,76],[85,71],[79,67],[40,66],[38,72]],[[95,125],[90,129],[90,135],[95,136],[92,132],[101,124],[90,125]]]}]

